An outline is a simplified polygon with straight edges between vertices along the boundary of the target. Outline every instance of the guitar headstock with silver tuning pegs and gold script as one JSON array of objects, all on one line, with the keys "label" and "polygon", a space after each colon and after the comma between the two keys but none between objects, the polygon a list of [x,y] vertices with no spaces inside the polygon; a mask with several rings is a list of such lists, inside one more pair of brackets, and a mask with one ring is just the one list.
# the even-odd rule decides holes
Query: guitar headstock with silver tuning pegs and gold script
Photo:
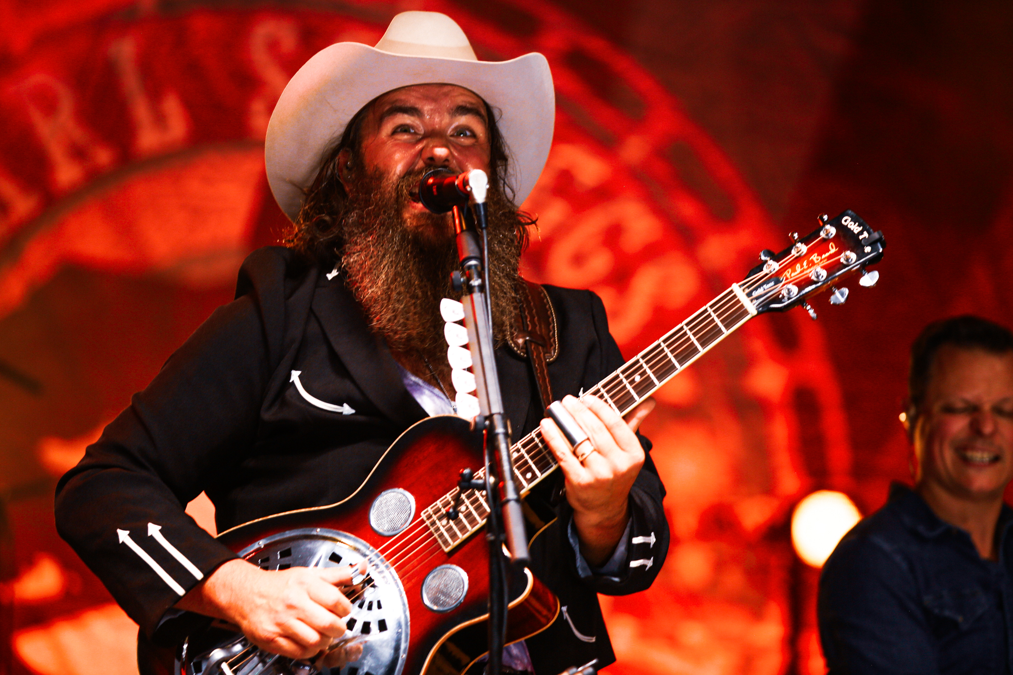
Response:
[{"label": "guitar headstock with silver tuning pegs and gold script", "polygon": [[861,272],[859,284],[875,285],[879,272],[866,267],[883,256],[886,242],[853,210],[837,218],[820,217],[821,225],[804,237],[792,235],[794,244],[780,253],[764,251],[761,264],[739,283],[757,313],[784,312],[801,305],[815,319],[806,298],[833,289],[830,302],[841,305],[848,289],[840,285],[847,276]]}]

